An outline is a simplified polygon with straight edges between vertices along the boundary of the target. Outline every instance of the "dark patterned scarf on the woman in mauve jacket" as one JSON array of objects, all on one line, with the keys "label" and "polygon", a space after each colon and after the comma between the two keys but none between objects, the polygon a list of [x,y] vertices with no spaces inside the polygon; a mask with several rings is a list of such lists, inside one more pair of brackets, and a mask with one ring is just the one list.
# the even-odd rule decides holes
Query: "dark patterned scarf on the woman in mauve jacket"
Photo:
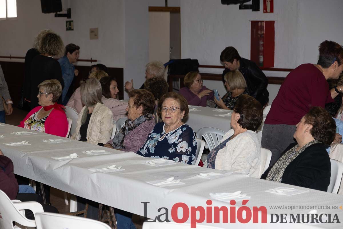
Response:
[{"label": "dark patterned scarf on the woman in mauve jacket", "polygon": [[129,131],[133,130],[134,128],[138,127],[145,121],[149,121],[153,118],[152,114],[147,113],[145,115],[141,115],[138,118],[136,118],[134,121],[131,121],[130,119],[125,121],[125,126],[123,126],[118,134],[116,134],[113,138],[113,148],[115,149],[123,149],[123,141],[125,136],[129,133]]}]

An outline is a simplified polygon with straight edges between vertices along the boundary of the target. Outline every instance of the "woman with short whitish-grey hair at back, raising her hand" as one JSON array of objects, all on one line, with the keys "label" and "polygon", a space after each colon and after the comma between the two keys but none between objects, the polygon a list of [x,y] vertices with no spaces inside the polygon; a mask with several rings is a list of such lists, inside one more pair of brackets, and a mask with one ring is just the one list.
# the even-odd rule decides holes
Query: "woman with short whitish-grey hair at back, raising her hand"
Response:
[{"label": "woman with short whitish-grey hair at back, raising her hand", "polygon": [[[154,78],[154,77],[160,77],[163,78],[164,75],[164,65],[161,61],[151,61],[145,65],[145,78],[146,80]],[[133,91],[133,79],[131,81],[126,81],[124,85],[125,89],[130,92]],[[144,83],[139,89],[145,89]]]}]

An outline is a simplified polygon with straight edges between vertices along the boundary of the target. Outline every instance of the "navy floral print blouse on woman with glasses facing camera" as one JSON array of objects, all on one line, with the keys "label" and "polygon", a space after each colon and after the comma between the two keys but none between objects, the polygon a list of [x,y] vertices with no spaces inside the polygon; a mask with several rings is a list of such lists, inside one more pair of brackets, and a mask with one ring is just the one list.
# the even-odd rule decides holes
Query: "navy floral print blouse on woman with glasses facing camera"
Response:
[{"label": "navy floral print blouse on woman with glasses facing camera", "polygon": [[137,154],[150,158],[164,158],[183,164],[194,164],[197,141],[193,129],[184,124],[165,133],[164,125],[163,122],[155,125]]}]

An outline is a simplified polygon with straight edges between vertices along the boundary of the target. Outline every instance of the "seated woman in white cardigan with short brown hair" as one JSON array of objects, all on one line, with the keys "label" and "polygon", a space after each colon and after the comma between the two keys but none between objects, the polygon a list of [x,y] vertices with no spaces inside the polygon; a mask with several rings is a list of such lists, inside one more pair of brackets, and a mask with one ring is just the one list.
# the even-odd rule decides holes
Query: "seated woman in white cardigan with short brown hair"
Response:
[{"label": "seated woman in white cardigan with short brown hair", "polygon": [[239,96],[231,115],[230,126],[220,144],[208,155],[207,168],[231,170],[259,177],[261,145],[256,134],[261,125],[261,104],[250,95]]}]

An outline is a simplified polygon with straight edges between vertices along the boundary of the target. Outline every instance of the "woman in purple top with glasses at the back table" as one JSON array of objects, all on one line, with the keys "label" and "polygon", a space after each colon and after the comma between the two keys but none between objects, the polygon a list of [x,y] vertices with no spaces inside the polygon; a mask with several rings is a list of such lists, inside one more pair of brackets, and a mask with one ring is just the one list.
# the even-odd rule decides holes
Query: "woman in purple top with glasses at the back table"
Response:
[{"label": "woman in purple top with glasses at the back table", "polygon": [[206,106],[207,100],[214,100],[213,91],[202,85],[202,79],[198,71],[188,72],[184,79],[184,88],[179,94],[183,95],[188,105]]}]

